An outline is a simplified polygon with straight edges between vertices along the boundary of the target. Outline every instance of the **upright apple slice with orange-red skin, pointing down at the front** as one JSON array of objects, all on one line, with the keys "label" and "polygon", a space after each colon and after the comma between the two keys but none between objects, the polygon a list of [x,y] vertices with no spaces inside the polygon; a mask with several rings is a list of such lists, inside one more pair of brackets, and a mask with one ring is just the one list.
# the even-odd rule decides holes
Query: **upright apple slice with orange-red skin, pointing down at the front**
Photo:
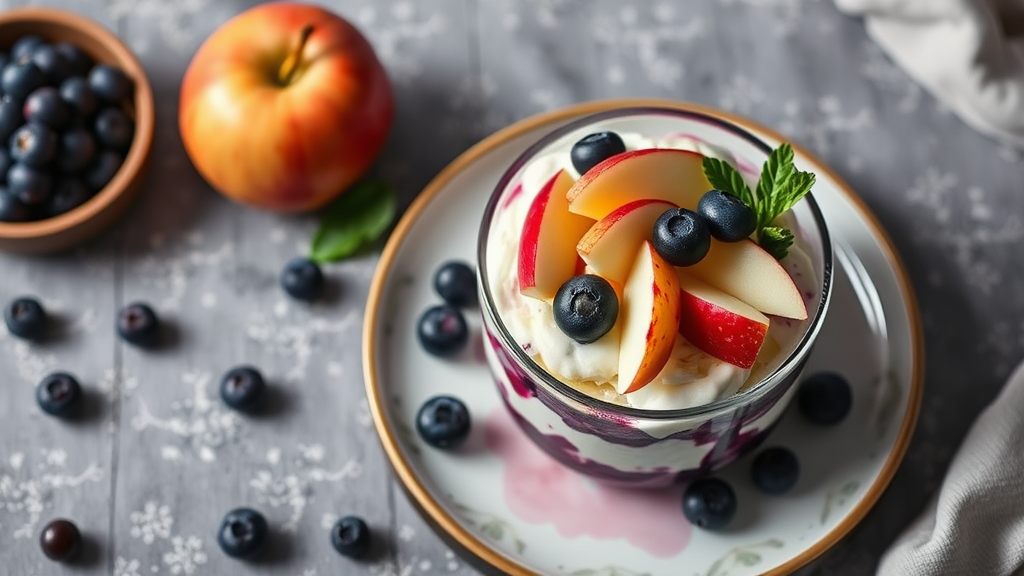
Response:
[{"label": "upright apple slice with orange-red skin, pointing down at the front", "polygon": [[633,258],[623,287],[618,344],[618,394],[647,385],[665,368],[679,331],[679,278],[649,241]]}]

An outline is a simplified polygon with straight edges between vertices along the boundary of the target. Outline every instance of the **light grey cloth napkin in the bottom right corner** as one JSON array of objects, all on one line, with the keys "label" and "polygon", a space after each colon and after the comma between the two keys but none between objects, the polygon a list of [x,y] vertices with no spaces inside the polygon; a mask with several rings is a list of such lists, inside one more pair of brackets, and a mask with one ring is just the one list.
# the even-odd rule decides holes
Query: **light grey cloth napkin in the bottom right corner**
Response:
[{"label": "light grey cloth napkin in the bottom right corner", "polygon": [[882,557],[879,576],[1024,572],[1024,364],[971,427],[939,493]]}]

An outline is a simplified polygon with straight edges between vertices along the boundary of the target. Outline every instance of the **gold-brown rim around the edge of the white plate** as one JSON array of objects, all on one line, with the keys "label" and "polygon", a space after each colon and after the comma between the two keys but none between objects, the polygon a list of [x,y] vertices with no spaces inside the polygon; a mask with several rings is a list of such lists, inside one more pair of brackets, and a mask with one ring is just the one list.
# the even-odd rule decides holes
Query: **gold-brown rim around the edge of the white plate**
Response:
[{"label": "gold-brown rim around the edge of the white plate", "polygon": [[[444,509],[444,507],[420,482],[420,479],[417,478],[412,466],[402,455],[401,450],[398,447],[398,441],[392,435],[392,427],[388,421],[385,409],[385,399],[383,395],[380,394],[380,389],[377,384],[377,365],[375,360],[377,328],[375,319],[380,312],[381,294],[384,289],[384,284],[387,282],[392,260],[394,259],[399,246],[401,246],[402,241],[412,229],[413,223],[419,218],[420,213],[423,212],[424,208],[427,207],[438,192],[446,187],[449,182],[451,182],[452,179],[454,179],[458,174],[465,170],[467,166],[476,162],[478,158],[489,153],[499,146],[504,145],[510,139],[516,138],[524,133],[544,126],[564,123],[573,118],[603,112],[609,109],[635,107],[671,108],[684,112],[695,112],[712,117],[719,117],[749,131],[766,135],[776,141],[786,140],[786,138],[782,137],[774,130],[765,128],[764,126],[761,126],[746,118],[711,107],[689,102],[679,102],[675,100],[649,98],[595,100],[527,118],[495,132],[490,136],[473,146],[449,164],[443,170],[440,171],[439,174],[437,174],[437,176],[434,177],[434,179],[430,181],[430,183],[427,184],[426,188],[423,189],[420,195],[406,211],[401,220],[398,222],[397,227],[395,227],[394,232],[391,233],[391,238],[388,240],[387,246],[385,246],[384,251],[381,254],[380,261],[377,264],[377,272],[370,285],[370,294],[367,300],[366,315],[364,316],[362,373],[366,381],[367,398],[370,401],[370,411],[374,418],[374,425],[377,428],[377,435],[384,446],[384,451],[387,453],[391,467],[398,476],[403,489],[416,507],[419,508],[424,518],[435,528],[435,530],[438,531],[439,535],[442,536],[445,541],[459,548],[461,551],[468,553],[472,560],[477,561],[478,564],[474,564],[480,568],[499,570],[505,574],[543,576],[542,574],[528,570],[512,562],[459,524],[459,522]],[[889,235],[886,234],[885,230],[883,230],[879,224],[878,220],[871,214],[863,200],[861,200],[860,197],[850,189],[850,187],[839,176],[839,174],[828,168],[824,163],[820,162],[806,149],[796,145],[794,145],[793,148],[797,151],[797,153],[811,159],[816,164],[817,169],[820,169],[822,172],[827,174],[828,177],[836,182],[837,188],[843,196],[846,197],[846,200],[850,201],[855,206],[860,217],[867,223],[876,239],[879,240],[886,259],[893,270],[895,270],[897,280],[899,282],[900,295],[906,303],[906,313],[910,320],[912,374],[909,398],[907,399],[909,405],[903,416],[903,422],[900,426],[899,436],[896,438],[896,443],[893,446],[893,450],[889,453],[889,457],[886,460],[885,465],[879,472],[874,483],[864,494],[864,497],[861,498],[853,509],[850,510],[843,522],[825,534],[824,537],[815,542],[814,545],[808,547],[796,558],[791,559],[788,562],[764,572],[762,576],[780,576],[792,573],[835,545],[844,536],[846,536],[846,534],[849,533],[854,526],[863,520],[867,511],[871,509],[874,503],[882,496],[883,492],[885,492],[889,483],[896,475],[896,469],[899,467],[900,462],[903,460],[907,446],[910,444],[910,437],[913,435],[913,429],[918,422],[918,414],[921,410],[921,399],[924,392],[925,381],[925,346],[924,335],[921,328],[921,316],[918,311],[918,302],[914,298],[909,279],[906,276],[906,270],[903,268],[896,250],[893,248]]]}]

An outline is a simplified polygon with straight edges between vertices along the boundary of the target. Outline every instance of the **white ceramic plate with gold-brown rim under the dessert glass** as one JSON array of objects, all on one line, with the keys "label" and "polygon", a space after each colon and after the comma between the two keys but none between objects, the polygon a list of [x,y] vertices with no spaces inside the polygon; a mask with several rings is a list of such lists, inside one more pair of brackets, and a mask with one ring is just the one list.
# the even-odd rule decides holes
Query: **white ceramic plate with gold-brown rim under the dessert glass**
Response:
[{"label": "white ceramic plate with gold-brown rim under the dessert glass", "polygon": [[[745,119],[662,100],[589,102],[535,117],[483,140],[445,168],[403,216],[371,288],[364,370],[377,430],[417,507],[483,570],[567,576],[743,576],[785,574],[850,531],[896,471],[916,421],[923,386],[920,319],[906,275],[864,205],[827,167],[797,150],[818,174],[815,198],[833,235],[831,308],[806,374],[836,370],[854,388],[838,426],[786,413],[766,445],[794,450],[801,477],[783,496],[759,493],[748,456],[720,476],[739,499],[728,530],[691,527],[680,488],[613,490],[555,463],[512,423],[482,360],[478,314],[473,345],[454,360],[426,354],[416,322],[439,297],[432,277],[449,259],[474,260],[487,197],[529,143],[577,117],[627,106],[668,106],[719,116],[770,145],[780,137]],[[467,444],[443,452],[412,430],[420,404],[461,398],[473,417]]]}]

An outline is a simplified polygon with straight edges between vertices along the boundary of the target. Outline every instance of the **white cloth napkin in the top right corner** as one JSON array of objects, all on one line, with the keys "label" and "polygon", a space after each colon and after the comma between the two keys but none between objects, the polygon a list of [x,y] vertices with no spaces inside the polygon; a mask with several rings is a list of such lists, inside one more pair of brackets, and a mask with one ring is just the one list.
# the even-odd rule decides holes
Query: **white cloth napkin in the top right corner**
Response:
[{"label": "white cloth napkin in the top right corner", "polygon": [[965,122],[1024,149],[1024,1],[836,0]]}]

